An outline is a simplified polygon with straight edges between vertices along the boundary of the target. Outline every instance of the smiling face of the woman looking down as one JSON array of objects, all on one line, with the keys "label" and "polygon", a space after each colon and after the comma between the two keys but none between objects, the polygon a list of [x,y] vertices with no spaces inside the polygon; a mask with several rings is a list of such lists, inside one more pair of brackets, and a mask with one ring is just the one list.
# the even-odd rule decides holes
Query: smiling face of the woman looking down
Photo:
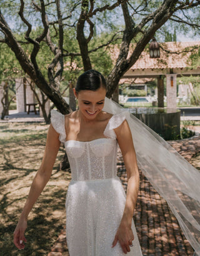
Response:
[{"label": "smiling face of the woman looking down", "polygon": [[86,119],[93,120],[104,107],[106,89],[100,87],[96,91],[81,90],[78,93],[74,90],[74,95],[78,99],[81,114],[83,114]]}]

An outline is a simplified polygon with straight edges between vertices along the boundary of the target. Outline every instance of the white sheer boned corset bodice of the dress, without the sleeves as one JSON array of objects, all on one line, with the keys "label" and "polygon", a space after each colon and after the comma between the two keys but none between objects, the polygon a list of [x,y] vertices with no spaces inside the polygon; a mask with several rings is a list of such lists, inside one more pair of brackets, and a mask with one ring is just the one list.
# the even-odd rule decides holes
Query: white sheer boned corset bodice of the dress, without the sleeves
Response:
[{"label": "white sheer boned corset bodice of the dress, without the sleeves", "polygon": [[111,138],[94,141],[66,141],[71,175],[74,180],[116,177],[117,141]]}]

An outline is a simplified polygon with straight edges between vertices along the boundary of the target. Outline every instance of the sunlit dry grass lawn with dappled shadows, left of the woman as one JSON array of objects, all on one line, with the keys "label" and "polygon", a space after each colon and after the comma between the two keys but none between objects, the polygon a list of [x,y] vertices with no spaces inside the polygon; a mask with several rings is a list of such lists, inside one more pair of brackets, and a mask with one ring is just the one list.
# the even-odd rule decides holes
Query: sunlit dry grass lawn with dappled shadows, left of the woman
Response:
[{"label": "sunlit dry grass lawn with dappled shadows, left of the woman", "polygon": [[[65,225],[65,200],[71,174],[58,171],[61,147],[53,174],[29,213],[24,250],[13,240],[19,215],[44,152],[49,125],[0,123],[0,255],[47,255]],[[64,252],[63,255],[68,255]]]}]

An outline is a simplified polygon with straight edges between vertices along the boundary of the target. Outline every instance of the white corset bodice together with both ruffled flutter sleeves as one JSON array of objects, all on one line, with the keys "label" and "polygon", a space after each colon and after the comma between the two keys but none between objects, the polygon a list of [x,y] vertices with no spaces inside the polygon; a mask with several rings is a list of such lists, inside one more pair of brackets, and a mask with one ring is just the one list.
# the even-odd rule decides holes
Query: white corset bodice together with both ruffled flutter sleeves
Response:
[{"label": "white corset bodice together with both ruffled flutter sleeves", "polygon": [[51,110],[51,124],[59,133],[59,140],[64,143],[75,181],[109,179],[117,175],[116,159],[118,142],[114,129],[119,127],[129,112],[114,114],[104,129],[104,138],[94,141],[66,141],[64,115]]}]

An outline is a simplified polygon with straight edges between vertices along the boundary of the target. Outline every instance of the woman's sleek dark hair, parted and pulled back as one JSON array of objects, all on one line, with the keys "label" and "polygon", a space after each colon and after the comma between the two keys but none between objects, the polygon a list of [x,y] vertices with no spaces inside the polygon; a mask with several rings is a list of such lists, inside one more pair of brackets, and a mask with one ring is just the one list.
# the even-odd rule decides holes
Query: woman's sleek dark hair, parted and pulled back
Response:
[{"label": "woman's sleek dark hair, parted and pulled back", "polygon": [[76,92],[81,90],[93,90],[96,91],[100,87],[106,89],[106,80],[100,72],[96,70],[88,70],[79,76],[76,83]]}]

